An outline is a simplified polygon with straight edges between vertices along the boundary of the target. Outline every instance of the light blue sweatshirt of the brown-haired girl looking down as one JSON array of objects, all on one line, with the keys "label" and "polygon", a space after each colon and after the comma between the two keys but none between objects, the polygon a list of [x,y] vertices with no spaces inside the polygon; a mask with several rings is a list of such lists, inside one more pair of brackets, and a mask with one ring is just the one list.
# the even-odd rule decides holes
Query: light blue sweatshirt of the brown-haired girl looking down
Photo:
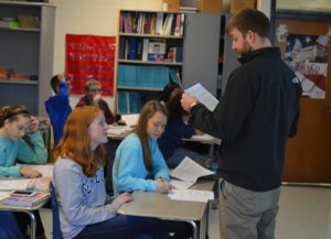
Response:
[{"label": "light blue sweatshirt of the brown-haired girl looking down", "polygon": [[149,172],[143,163],[142,145],[136,133],[130,133],[116,150],[113,165],[114,194],[121,192],[157,192],[157,180],[169,181],[169,169],[159,150],[157,140],[150,140],[153,171]]}]

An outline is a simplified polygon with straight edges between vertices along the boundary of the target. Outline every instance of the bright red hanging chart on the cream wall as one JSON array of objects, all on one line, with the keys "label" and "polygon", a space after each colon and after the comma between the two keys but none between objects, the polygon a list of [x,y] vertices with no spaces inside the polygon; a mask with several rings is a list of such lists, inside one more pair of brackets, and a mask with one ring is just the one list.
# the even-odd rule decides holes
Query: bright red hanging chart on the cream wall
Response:
[{"label": "bright red hanging chart on the cream wall", "polygon": [[103,95],[114,95],[116,37],[66,34],[65,72],[71,76],[71,94],[84,95],[87,79],[103,86]]}]

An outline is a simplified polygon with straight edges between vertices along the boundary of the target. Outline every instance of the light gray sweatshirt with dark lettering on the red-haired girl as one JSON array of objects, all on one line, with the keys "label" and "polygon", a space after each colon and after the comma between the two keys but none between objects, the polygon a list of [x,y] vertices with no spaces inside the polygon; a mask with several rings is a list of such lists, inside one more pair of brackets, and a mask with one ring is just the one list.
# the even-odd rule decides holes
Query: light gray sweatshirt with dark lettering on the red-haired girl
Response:
[{"label": "light gray sweatshirt with dark lettering on the red-haired girl", "polygon": [[78,235],[87,225],[102,222],[116,216],[120,204],[105,189],[104,169],[93,177],[71,159],[58,159],[54,166],[53,185],[58,204],[61,231],[64,239]]}]

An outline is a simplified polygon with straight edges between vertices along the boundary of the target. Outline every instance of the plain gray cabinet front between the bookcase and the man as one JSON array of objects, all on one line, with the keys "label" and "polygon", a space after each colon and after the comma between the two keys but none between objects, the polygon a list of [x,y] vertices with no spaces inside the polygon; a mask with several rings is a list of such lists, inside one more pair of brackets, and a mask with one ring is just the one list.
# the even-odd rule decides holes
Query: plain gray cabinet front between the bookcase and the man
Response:
[{"label": "plain gray cabinet front between the bookcase and the man", "polygon": [[216,96],[220,14],[186,13],[183,88],[196,83]]}]

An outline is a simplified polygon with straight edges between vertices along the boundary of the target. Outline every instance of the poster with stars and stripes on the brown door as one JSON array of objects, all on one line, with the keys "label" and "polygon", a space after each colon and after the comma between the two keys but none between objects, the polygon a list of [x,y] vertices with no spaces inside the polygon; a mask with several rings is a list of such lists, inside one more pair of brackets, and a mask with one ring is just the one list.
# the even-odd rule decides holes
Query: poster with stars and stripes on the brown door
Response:
[{"label": "poster with stars and stripes on the brown door", "polygon": [[328,42],[328,35],[287,35],[285,61],[300,79],[303,96],[325,98]]}]

